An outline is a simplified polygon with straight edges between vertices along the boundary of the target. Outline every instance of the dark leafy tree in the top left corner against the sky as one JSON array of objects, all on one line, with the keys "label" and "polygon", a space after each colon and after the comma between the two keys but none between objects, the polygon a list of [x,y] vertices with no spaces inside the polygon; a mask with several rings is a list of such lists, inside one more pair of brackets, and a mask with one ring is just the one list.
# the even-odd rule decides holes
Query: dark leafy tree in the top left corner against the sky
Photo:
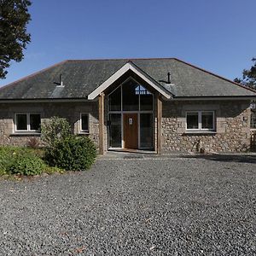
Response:
[{"label": "dark leafy tree in the top left corner against the sky", "polygon": [[4,79],[10,61],[21,61],[23,49],[30,42],[26,32],[30,14],[30,0],[0,0],[0,78]]}]

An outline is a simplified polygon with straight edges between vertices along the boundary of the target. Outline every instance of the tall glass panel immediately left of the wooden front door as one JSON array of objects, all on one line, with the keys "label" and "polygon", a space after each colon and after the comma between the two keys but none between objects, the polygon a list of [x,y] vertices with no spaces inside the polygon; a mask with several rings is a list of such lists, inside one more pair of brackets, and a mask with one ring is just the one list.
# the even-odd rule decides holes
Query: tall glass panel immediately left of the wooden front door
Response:
[{"label": "tall glass panel immediately left of the wooden front door", "polygon": [[109,114],[109,146],[122,148],[121,113]]}]

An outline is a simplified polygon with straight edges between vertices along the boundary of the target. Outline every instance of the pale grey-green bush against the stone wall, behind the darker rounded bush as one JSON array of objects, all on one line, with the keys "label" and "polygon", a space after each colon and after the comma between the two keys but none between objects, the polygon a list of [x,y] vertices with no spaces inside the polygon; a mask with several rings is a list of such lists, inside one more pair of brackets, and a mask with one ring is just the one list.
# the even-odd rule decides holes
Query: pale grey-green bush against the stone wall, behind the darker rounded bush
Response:
[{"label": "pale grey-green bush against the stone wall, behind the darker rounded bush", "polygon": [[41,125],[41,134],[44,143],[54,148],[55,143],[71,135],[71,126],[67,119],[54,116]]}]

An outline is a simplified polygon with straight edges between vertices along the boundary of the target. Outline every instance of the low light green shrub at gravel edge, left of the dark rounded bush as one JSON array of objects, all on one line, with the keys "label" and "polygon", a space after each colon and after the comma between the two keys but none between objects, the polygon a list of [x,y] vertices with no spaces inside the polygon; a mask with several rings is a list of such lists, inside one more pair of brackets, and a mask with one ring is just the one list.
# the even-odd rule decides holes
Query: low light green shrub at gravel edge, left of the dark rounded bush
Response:
[{"label": "low light green shrub at gravel edge, left of the dark rounded bush", "polygon": [[44,172],[45,164],[35,155],[20,155],[12,166],[9,166],[10,174],[38,175]]}]

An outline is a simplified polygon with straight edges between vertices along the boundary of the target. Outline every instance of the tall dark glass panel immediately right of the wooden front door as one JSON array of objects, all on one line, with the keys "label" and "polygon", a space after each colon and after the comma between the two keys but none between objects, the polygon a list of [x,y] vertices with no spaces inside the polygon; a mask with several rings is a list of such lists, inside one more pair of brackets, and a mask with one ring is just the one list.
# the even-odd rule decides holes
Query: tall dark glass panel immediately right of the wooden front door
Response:
[{"label": "tall dark glass panel immediately right of the wooden front door", "polygon": [[153,114],[140,114],[141,148],[153,148]]}]

